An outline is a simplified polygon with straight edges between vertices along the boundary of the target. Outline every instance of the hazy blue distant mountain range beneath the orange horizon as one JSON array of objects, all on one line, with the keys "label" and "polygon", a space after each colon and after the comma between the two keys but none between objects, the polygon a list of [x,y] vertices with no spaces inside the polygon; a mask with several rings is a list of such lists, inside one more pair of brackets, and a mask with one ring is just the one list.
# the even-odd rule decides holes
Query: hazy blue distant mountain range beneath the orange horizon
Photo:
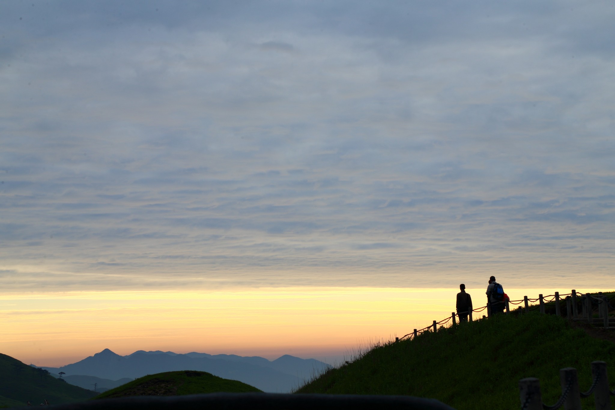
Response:
[{"label": "hazy blue distant mountain range beneath the orange horizon", "polygon": [[[130,355],[121,356],[109,349],[71,365],[60,368],[43,367],[50,373],[64,372],[66,382],[81,387],[98,383],[98,387],[106,389],[128,382],[128,379],[148,374],[197,370],[224,379],[239,380],[264,392],[273,393],[290,392],[302,385],[305,380],[329,368],[331,366],[322,361],[290,355],[269,361],[258,356],[209,355],[197,352],[178,354],[160,350],[155,352],[138,350]],[[91,376],[97,377],[98,380],[92,379]],[[93,386],[89,388],[93,390]]]}]

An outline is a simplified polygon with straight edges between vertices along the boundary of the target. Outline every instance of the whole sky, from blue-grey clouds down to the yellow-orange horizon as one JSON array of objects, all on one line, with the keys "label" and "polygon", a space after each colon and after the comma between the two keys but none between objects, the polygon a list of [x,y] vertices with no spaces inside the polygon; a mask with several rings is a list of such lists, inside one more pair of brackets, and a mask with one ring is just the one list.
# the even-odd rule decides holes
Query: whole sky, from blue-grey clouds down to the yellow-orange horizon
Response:
[{"label": "whole sky, from blue-grey clouds down to the yellow-orange horizon", "polygon": [[[613,20],[608,1],[2,2],[0,352],[157,350],[163,321],[101,337],[143,308],[212,335],[161,350],[339,357],[450,314],[461,282],[603,288]],[[322,310],[345,298],[370,319],[339,340]],[[293,301],[327,329],[295,337]]]}]

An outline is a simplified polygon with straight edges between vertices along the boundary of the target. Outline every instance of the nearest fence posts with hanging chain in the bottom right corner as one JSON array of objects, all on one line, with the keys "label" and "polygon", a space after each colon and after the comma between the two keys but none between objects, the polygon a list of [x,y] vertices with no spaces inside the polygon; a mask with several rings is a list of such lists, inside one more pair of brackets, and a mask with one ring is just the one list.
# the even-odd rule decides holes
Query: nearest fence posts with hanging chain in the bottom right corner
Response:
[{"label": "nearest fence posts with hanging chain in the bottom right corner", "polygon": [[562,405],[567,410],[581,410],[581,399],[593,394],[596,409],[610,409],[615,392],[609,389],[605,361],[592,361],[592,385],[587,392],[579,390],[577,371],[574,368],[560,369],[561,395],[553,406],[542,403],[539,380],[534,377],[519,380],[522,410],[557,410]]}]

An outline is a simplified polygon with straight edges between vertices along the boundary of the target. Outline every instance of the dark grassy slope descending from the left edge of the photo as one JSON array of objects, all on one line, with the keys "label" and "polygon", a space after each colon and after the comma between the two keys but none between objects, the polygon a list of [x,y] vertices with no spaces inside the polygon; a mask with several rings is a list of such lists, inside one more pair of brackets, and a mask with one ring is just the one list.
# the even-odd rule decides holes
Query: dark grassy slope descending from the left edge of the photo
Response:
[{"label": "dark grassy slope descending from the left edge of the photo", "polygon": [[15,402],[25,406],[30,401],[38,406],[44,399],[51,404],[73,403],[93,395],[95,393],[90,390],[42,374],[36,368],[0,353],[0,405],[7,401],[8,406],[16,406]]}]

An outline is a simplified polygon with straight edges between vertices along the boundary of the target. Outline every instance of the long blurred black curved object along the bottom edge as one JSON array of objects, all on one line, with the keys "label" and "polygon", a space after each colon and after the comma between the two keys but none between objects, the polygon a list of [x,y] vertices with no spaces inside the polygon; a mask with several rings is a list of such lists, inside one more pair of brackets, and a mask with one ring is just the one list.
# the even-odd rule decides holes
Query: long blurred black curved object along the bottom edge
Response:
[{"label": "long blurred black curved object along the bottom edge", "polygon": [[189,396],[140,396],[92,400],[53,406],[57,410],[454,410],[438,400],[411,396],[317,395],[276,393],[211,393]]}]

